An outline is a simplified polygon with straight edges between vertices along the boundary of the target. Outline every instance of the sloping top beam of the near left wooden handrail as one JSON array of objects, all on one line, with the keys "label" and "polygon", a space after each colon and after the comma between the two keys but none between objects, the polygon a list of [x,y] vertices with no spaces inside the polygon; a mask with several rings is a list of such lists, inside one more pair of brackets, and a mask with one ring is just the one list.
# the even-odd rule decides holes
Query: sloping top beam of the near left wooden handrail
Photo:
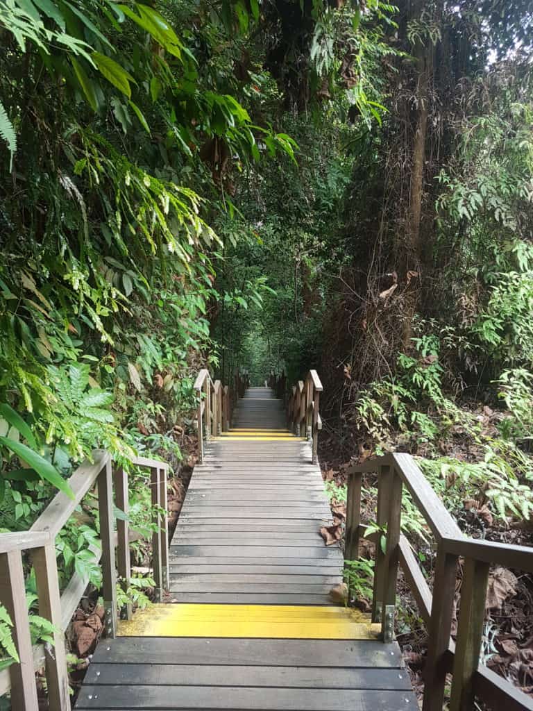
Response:
[{"label": "sloping top beam of the near left wooden handrail", "polygon": [[74,498],[70,498],[63,491],[57,493],[31,527],[30,530],[32,532],[44,531],[50,535],[50,538],[55,538],[58,535],[72,513],[74,513],[78,503],[80,503],[87,491],[90,491],[95,485],[100,471],[104,469],[104,466],[111,459],[109,452],[103,449],[95,449],[93,456],[95,461],[84,461],[68,480],[74,493]]}]

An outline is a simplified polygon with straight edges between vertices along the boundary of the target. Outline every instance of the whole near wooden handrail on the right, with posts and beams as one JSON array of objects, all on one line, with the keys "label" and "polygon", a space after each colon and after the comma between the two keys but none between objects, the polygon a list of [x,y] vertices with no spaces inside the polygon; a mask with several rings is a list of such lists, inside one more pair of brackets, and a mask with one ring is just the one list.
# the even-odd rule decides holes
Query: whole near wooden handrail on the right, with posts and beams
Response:
[{"label": "whole near wooden handrail on the right, with posts and beams", "polygon": [[[533,710],[533,701],[507,680],[479,664],[490,564],[533,572],[533,548],[467,538],[409,454],[387,454],[348,471],[346,560],[358,557],[361,485],[364,472],[377,472],[377,525],[386,530],[386,546],[376,545],[372,616],[382,635],[392,638],[398,566],[428,627],[424,711],[441,711],[446,674],[453,672],[450,711],[473,708],[474,695],[498,710]],[[437,541],[432,596],[409,542],[401,534],[402,487],[406,486]],[[372,538],[377,542],[380,533]],[[451,640],[458,559],[463,562],[463,587],[457,641]],[[497,705],[494,704],[497,700]]]}]

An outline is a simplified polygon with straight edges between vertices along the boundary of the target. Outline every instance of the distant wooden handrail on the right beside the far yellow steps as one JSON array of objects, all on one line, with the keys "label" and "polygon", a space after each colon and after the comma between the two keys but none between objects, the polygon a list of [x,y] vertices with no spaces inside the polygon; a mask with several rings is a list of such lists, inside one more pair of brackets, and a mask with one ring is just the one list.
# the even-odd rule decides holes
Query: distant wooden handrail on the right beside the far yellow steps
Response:
[{"label": "distant wooden handrail on the right beside the far yellow steps", "polygon": [[[267,382],[278,397],[285,397],[285,375],[283,373],[279,378],[274,373],[271,373]],[[280,385],[283,385],[283,395],[279,394]],[[306,375],[305,381],[298,380],[298,383],[291,387],[287,401],[289,428],[296,435],[311,439],[313,443],[313,464],[318,461],[318,432],[322,429],[320,415],[321,392],[323,392],[321,379],[318,377],[316,370],[310,370]]]}]

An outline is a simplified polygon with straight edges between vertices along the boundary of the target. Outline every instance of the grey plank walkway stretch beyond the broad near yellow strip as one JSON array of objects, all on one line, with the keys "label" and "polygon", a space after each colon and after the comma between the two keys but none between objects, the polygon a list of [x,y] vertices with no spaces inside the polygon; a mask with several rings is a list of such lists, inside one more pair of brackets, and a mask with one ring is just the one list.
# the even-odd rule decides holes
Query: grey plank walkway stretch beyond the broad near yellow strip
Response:
[{"label": "grey plank walkway stretch beyond the broad near yellow strip", "polygon": [[171,544],[175,602],[330,604],[343,555],[311,445],[286,429],[266,387],[239,400],[233,428],[196,466]]}]

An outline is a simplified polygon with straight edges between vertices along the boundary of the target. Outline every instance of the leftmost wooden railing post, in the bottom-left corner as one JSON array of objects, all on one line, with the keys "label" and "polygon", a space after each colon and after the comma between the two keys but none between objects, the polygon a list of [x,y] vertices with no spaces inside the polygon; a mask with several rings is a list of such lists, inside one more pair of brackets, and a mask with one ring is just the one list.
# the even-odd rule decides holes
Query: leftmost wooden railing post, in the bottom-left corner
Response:
[{"label": "leftmost wooden railing post, in the bottom-left corner", "polygon": [[16,711],[37,711],[37,687],[20,550],[0,553],[0,602],[11,617],[13,640],[20,660],[9,667],[11,707]]}]

